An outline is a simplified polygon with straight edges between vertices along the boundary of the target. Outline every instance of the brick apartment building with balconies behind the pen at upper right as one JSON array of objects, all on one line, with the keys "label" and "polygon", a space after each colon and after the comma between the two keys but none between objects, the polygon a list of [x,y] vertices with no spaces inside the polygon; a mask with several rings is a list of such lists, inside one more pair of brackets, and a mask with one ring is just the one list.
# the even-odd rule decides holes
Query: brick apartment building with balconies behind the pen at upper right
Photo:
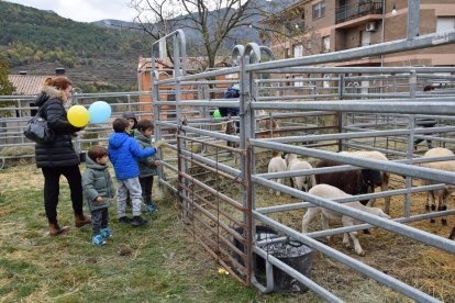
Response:
[{"label": "brick apartment building with balconies behind the pen at upper right", "polygon": [[[269,16],[265,24],[292,38],[271,38],[277,58],[337,52],[407,37],[408,0],[304,0]],[[455,29],[454,0],[421,0],[419,34]],[[455,66],[455,47],[388,54],[336,66]]]}]

